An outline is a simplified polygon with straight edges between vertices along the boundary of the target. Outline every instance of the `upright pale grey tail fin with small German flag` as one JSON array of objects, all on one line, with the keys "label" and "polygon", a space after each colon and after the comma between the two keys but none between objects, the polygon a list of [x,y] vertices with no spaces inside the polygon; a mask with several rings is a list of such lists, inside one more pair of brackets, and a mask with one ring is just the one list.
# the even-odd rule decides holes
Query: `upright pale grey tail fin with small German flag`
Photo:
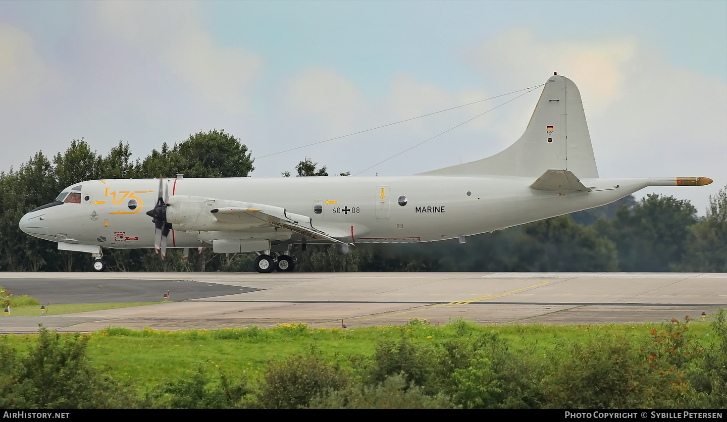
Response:
[{"label": "upright pale grey tail fin with small German flag", "polygon": [[420,174],[538,177],[548,169],[567,169],[580,178],[598,177],[581,94],[564,76],[548,79],[525,133],[506,150]]}]

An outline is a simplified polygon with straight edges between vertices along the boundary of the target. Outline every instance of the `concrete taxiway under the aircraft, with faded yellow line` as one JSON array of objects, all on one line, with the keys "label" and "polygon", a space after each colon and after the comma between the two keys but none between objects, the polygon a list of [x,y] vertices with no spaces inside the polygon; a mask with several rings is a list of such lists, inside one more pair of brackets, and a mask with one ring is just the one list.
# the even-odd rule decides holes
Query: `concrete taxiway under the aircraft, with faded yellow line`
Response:
[{"label": "concrete taxiway under the aircraft, with faded yellow line", "polygon": [[[185,330],[306,322],[313,327],[446,323],[601,324],[699,318],[727,308],[727,273],[0,273],[43,303],[172,303],[37,317],[0,317],[0,332],[108,326]],[[53,298],[48,299],[48,298]]]}]

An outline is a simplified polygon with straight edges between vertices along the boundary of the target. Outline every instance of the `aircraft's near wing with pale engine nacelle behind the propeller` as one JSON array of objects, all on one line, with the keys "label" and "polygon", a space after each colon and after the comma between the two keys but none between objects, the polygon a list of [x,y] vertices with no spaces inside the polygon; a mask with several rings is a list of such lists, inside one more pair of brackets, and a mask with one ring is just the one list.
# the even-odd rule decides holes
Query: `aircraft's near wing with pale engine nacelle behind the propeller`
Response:
[{"label": "aircraft's near wing with pale engine nacelle behind the propeller", "polygon": [[255,231],[260,227],[280,227],[316,240],[349,244],[337,239],[335,233],[313,227],[309,216],[261,203],[177,195],[169,198],[166,219],[172,224],[179,224],[181,230]]}]

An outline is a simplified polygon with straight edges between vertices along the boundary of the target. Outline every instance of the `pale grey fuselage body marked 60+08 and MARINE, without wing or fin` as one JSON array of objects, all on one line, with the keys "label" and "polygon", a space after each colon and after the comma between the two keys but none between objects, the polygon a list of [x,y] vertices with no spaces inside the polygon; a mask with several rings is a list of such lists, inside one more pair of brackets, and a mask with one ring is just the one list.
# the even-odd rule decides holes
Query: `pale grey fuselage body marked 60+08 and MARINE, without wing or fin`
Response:
[{"label": "pale grey fuselage body marked 60+08 and MARINE, without wing or fin", "polygon": [[[429,242],[493,232],[602,206],[648,186],[648,179],[595,179],[585,181],[596,188],[592,192],[552,192],[534,190],[532,182],[514,176],[164,180],[172,198],[188,195],[275,203],[286,211],[312,216],[313,227],[346,243]],[[157,186],[158,179],[82,182],[81,203],[32,211],[20,224],[25,232],[55,242],[153,248],[153,224],[146,211],[156,202]],[[136,207],[131,209],[129,201],[134,200]],[[316,206],[321,207],[319,214]],[[204,246],[198,230],[184,230],[180,224],[172,224],[172,229],[169,246]],[[249,233],[246,238],[301,241],[294,232],[275,227]]]}]

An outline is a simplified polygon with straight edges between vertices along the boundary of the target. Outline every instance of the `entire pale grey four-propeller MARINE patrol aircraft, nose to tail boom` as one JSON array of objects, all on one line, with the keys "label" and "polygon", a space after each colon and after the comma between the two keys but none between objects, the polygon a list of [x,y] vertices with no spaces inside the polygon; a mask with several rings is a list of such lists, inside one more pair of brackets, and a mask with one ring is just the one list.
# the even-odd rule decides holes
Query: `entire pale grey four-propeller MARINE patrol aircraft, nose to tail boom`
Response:
[{"label": "entire pale grey four-propeller MARINE patrol aircraft, nose to tail boom", "polygon": [[289,246],[459,238],[603,206],[647,186],[706,177],[601,179],[579,91],[551,76],[525,133],[506,150],[414,176],[105,179],[63,190],[20,220],[59,249],[212,247],[258,253],[259,272],[294,267]]}]

